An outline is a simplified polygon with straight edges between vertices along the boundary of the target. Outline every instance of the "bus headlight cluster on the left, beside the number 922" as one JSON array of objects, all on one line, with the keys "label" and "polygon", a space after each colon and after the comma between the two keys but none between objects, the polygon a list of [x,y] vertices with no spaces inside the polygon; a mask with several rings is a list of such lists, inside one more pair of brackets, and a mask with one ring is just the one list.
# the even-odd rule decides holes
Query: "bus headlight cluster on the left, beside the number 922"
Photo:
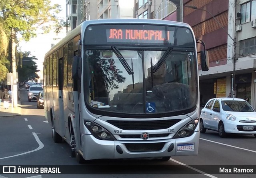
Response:
[{"label": "bus headlight cluster on the left, beside the number 922", "polygon": [[100,140],[116,140],[111,133],[96,123],[84,120],[84,125],[95,138]]}]

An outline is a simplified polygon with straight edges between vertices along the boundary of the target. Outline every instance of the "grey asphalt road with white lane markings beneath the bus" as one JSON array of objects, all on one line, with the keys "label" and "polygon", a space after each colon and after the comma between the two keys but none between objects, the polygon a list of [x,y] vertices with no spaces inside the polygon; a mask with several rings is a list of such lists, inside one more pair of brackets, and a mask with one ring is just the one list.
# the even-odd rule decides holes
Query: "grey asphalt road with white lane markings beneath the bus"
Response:
[{"label": "grey asphalt road with white lane markings beneath the bus", "polygon": [[[20,91],[22,115],[0,118],[0,165],[80,165],[71,157],[67,143],[54,143],[44,109],[36,108],[36,101],[28,102],[26,91]],[[84,169],[97,171],[86,177],[138,178],[254,178],[254,174],[217,174],[209,169],[256,165],[256,138],[253,135],[229,135],[220,138],[217,132],[200,134],[198,156],[176,156],[167,162],[159,160],[96,160],[84,164]],[[108,174],[106,167],[112,166]],[[94,167],[91,167],[94,165]],[[135,166],[134,166],[135,165]],[[177,165],[183,165],[176,167]],[[198,166],[197,166],[198,165]],[[206,165],[206,166],[205,166]],[[121,169],[120,169],[121,168]],[[135,171],[134,168],[136,169]],[[208,171],[209,170],[209,171]],[[179,173],[179,174],[178,174]],[[186,173],[186,174],[182,174]],[[1,174],[0,178],[85,177],[83,174]]]}]

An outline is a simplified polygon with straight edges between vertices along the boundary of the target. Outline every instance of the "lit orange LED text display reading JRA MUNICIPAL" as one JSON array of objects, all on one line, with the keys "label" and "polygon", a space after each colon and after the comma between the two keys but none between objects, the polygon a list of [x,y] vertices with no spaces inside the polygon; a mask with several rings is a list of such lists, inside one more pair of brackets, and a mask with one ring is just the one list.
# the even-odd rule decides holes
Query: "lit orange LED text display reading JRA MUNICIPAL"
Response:
[{"label": "lit orange LED text display reading JRA MUNICIPAL", "polygon": [[165,30],[106,29],[107,42],[172,44],[173,34]]}]

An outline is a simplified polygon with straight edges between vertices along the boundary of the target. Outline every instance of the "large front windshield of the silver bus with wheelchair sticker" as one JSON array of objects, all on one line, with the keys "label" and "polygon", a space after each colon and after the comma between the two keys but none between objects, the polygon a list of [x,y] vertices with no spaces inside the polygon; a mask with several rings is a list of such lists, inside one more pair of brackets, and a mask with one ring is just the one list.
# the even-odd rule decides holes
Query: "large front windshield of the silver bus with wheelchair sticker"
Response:
[{"label": "large front windshield of the silver bus with wheelchair sticker", "polygon": [[[87,106],[122,114],[166,113],[194,107],[195,53],[173,50],[166,55],[167,50],[118,50],[125,62],[113,49],[86,50]],[[161,65],[159,59],[164,59]],[[160,67],[153,70],[156,65]]]}]

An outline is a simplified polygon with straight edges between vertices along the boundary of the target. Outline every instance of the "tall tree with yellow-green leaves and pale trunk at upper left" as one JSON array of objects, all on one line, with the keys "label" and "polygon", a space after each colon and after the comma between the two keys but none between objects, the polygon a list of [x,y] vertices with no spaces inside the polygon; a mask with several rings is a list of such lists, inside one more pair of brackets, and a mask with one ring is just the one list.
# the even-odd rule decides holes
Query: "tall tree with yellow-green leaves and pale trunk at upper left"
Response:
[{"label": "tall tree with yellow-green leaves and pale trunk at upper left", "polygon": [[51,6],[50,0],[1,0],[0,22],[3,22],[3,27],[10,34],[13,73],[16,73],[16,35],[20,34],[28,41],[36,36],[38,28],[44,33],[49,32],[54,26],[60,28],[58,24],[62,21],[56,17],[59,12],[60,6]]}]

